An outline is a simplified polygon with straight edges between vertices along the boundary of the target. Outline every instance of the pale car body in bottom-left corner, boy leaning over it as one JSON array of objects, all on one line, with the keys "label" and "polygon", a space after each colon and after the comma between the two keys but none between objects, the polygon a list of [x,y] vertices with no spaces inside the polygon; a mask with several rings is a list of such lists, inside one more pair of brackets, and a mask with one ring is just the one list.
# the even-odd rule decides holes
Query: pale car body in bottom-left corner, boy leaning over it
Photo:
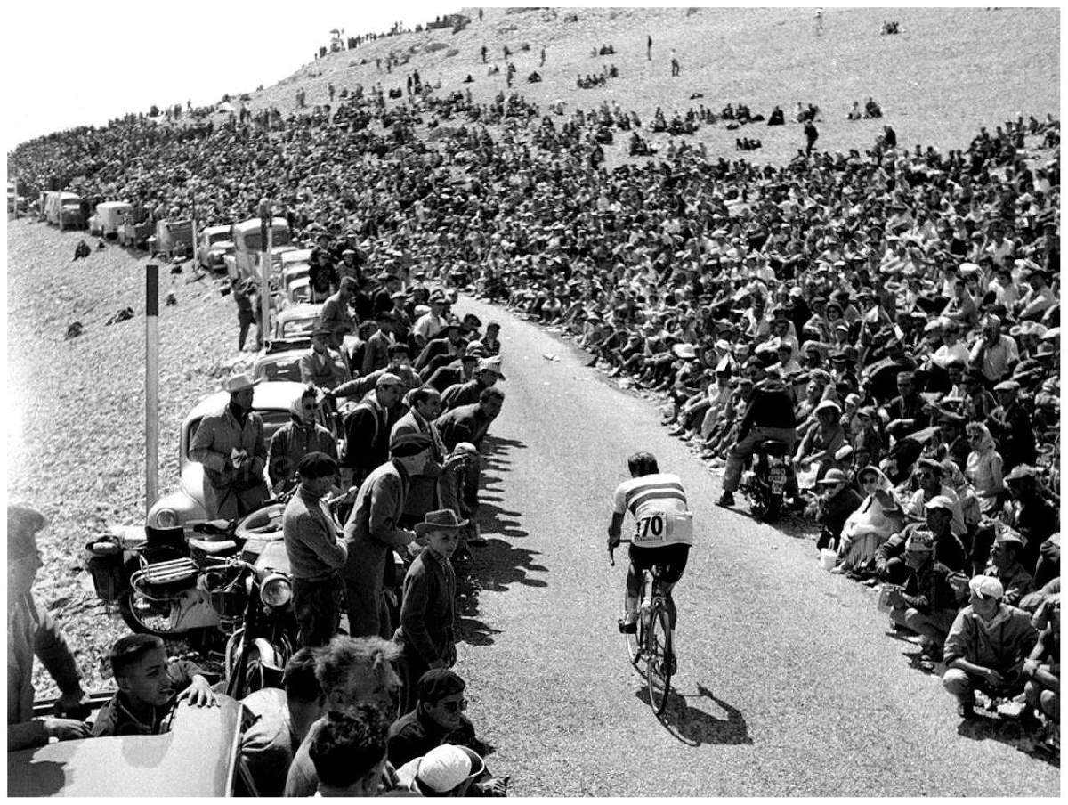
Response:
[{"label": "pale car body in bottom-left corner, boy leaning over it", "polygon": [[[34,709],[46,715],[52,705]],[[83,738],[9,752],[7,796],[254,795],[239,752],[253,723],[240,702],[218,694],[218,707],[178,705],[170,730],[158,736]]]}]

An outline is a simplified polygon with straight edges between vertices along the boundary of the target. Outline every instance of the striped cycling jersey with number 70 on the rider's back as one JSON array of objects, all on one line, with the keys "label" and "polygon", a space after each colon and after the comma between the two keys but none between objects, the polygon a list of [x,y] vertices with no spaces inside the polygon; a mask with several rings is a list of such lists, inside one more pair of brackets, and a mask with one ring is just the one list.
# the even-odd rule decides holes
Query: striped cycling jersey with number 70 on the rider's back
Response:
[{"label": "striped cycling jersey with number 70 on the rider's back", "polygon": [[634,515],[634,544],[693,542],[693,515],[677,475],[655,473],[624,481],[615,490],[613,511]]}]

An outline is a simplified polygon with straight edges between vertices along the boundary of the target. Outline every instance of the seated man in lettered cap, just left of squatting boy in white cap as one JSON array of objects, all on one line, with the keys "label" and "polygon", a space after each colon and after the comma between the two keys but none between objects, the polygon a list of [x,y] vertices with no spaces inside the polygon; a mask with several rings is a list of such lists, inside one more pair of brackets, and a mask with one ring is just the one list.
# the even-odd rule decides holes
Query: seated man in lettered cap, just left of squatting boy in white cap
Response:
[{"label": "seated man in lettered cap, just left of squatting boy in white cap", "polygon": [[957,617],[957,593],[948,580],[953,571],[934,558],[934,544],[929,529],[909,531],[904,546],[905,588],[890,590],[890,620],[920,635],[924,652],[937,662]]}]

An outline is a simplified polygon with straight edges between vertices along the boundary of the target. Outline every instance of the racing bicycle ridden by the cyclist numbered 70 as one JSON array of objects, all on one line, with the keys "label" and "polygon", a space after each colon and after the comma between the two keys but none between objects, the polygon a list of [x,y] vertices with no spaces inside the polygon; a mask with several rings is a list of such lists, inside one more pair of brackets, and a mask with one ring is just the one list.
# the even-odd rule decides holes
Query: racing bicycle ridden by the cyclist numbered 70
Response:
[{"label": "racing bicycle ridden by the cyclist numbered 70", "polygon": [[[631,540],[619,540],[619,543]],[[615,567],[615,548],[609,549],[609,560]],[[645,683],[649,692],[649,707],[657,715],[663,713],[671,693],[671,678],[675,674],[675,652],[672,637],[673,606],[659,584],[659,567],[642,573],[641,602],[638,631],[624,633],[630,664],[639,669],[645,663]],[[651,595],[650,595],[651,579]]]}]

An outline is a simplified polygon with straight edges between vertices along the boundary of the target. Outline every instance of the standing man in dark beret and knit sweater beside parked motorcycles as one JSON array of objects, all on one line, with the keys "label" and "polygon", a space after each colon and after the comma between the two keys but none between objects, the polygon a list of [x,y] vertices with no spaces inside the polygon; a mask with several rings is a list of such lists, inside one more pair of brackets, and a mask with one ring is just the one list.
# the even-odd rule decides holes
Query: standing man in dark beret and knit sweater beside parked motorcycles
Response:
[{"label": "standing man in dark beret and knit sweater beside parked motorcycles", "polygon": [[282,515],[282,536],[293,575],[297,641],[325,646],[337,633],[348,551],[323,498],[337,478],[337,462],[312,452],[297,465],[300,485]]}]

